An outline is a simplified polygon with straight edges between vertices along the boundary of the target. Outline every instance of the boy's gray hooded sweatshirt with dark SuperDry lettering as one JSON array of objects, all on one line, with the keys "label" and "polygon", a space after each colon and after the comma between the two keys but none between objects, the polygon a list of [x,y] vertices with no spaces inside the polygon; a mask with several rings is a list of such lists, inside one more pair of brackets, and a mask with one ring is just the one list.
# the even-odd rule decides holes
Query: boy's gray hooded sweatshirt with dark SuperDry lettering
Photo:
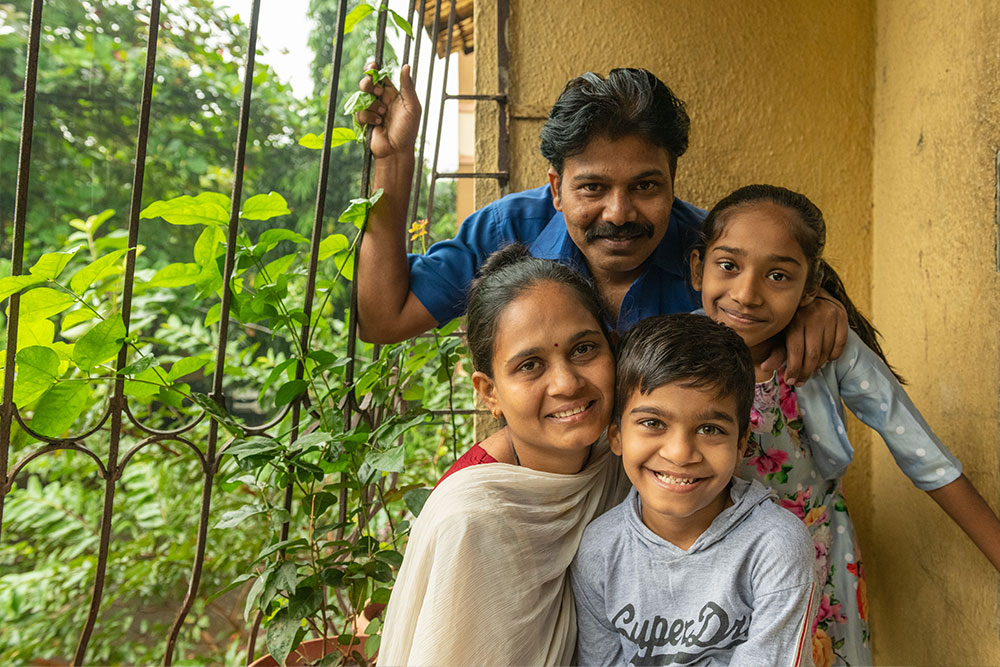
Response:
[{"label": "boy's gray hooded sweatshirt with dark SuperDry lettering", "polygon": [[687,551],[643,524],[635,489],[587,526],[570,569],[579,664],[813,664],[812,538],[759,482],[730,493]]}]

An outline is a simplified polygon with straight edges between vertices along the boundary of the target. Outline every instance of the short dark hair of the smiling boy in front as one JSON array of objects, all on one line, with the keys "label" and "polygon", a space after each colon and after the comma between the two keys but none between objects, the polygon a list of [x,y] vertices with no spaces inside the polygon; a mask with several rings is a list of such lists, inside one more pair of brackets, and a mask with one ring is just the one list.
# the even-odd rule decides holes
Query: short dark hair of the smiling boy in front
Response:
[{"label": "short dark hair of the smiling boy in front", "polygon": [[615,423],[621,426],[634,392],[648,394],[674,382],[732,396],[741,438],[750,427],[753,359],[743,339],[726,325],[705,315],[681,313],[649,317],[625,334],[618,346]]}]

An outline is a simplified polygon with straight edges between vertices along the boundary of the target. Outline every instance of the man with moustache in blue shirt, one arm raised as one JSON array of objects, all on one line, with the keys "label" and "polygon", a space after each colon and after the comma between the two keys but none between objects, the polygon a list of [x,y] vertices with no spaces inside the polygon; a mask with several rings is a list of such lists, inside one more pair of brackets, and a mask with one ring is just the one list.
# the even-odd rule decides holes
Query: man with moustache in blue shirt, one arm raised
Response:
[{"label": "man with moustache in blue shirt, one arm raised", "polygon": [[[379,97],[358,120],[374,126],[373,181],[385,190],[360,251],[362,338],[403,340],[461,315],[478,267],[513,241],[593,280],[619,331],[697,307],[686,266],[705,212],[673,193],[690,121],[650,72],[620,68],[607,78],[588,72],[571,80],[542,130],[549,184],[493,202],[469,216],[454,239],[410,257],[407,207],[420,104],[409,67],[398,90],[391,83],[373,87],[368,77],[361,89]],[[839,356],[847,337],[846,314],[832,300],[815,300],[793,324],[786,336],[789,382]],[[783,358],[779,352],[770,365]]]}]

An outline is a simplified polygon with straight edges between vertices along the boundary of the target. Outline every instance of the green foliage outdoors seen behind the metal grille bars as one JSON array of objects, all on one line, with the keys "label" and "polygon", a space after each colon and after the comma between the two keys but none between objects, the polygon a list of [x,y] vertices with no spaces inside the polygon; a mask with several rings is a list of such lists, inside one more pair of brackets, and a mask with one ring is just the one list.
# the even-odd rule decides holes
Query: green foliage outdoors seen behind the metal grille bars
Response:
[{"label": "green foliage outdoors seen behind the metal grille bars", "polygon": [[[28,6],[27,0],[0,2],[0,182],[8,184],[14,183],[17,170]],[[226,408],[245,424],[261,423],[276,413],[276,403],[287,402],[290,392],[279,394],[291,383],[289,368],[294,368],[289,365],[295,355],[294,335],[289,332],[299,324],[296,308],[300,310],[304,299],[313,296],[304,294],[302,256],[307,246],[293,234],[308,236],[312,225],[319,153],[300,146],[298,140],[322,131],[335,6],[333,0],[310,2],[309,12],[318,27],[309,36],[316,52],[312,65],[316,85],[309,99],[293,96],[275,76],[265,64],[266,50],[257,64],[244,191],[248,198],[280,192],[284,208],[241,222],[246,289],[236,299],[225,393]],[[37,368],[42,375],[37,393],[22,395],[18,405],[31,417],[33,427],[50,435],[96,426],[111,393],[113,369],[106,354],[110,348],[94,341],[95,332],[103,329],[104,338],[115,342],[111,332],[122,326],[120,317],[117,324],[115,317],[122,289],[120,260],[126,251],[146,9],[145,3],[137,7],[115,0],[45,2],[25,266],[37,266],[46,257],[55,257],[63,266],[22,297],[22,317],[26,312],[34,316],[24,317],[19,334],[19,382],[28,360],[40,360]],[[228,195],[247,28],[211,0],[165,3],[163,12],[144,205],[198,193]],[[338,109],[371,57],[373,26],[369,20],[345,40]],[[347,123],[343,119],[342,124]],[[335,212],[357,196],[360,164],[358,144],[334,151],[327,192],[331,215],[323,223],[324,238],[343,235],[349,240],[356,232],[350,222],[337,222]],[[13,198],[13,187],[0,189],[5,234],[12,225]],[[243,208],[246,213],[247,202]],[[433,228],[449,224],[453,228],[454,214],[448,213],[454,210],[450,184],[438,185],[435,210],[443,214]],[[134,372],[126,391],[136,417],[149,426],[176,427],[193,418],[202,406],[191,397],[209,390],[224,253],[224,238],[217,229],[213,224],[167,224],[156,215],[142,221],[130,323]],[[285,231],[274,233],[278,230]],[[0,239],[0,255],[10,255],[9,235]],[[110,261],[102,259],[112,255]],[[336,278],[346,270],[338,256],[331,253],[321,262],[314,349],[343,359],[349,284]],[[0,276],[7,275],[8,268],[6,260],[0,260]],[[67,300],[70,293],[78,298]],[[281,311],[276,304],[292,306]],[[455,346],[450,349],[457,355]],[[362,348],[368,358],[370,352]],[[456,377],[461,381],[468,374],[459,357],[441,355],[439,347],[426,341],[383,351],[393,354],[410,369],[406,385],[399,388],[409,404],[420,410],[471,407],[469,392],[452,388]],[[51,366],[53,359],[56,366]],[[379,363],[359,368],[362,379],[366,374],[370,379],[368,393],[375,392],[390,372]],[[51,377],[45,369],[52,371]],[[31,389],[22,386],[28,387],[22,392]],[[46,406],[53,405],[57,409],[46,412]],[[424,417],[412,426],[406,436],[405,469],[398,473],[403,488],[431,483],[458,448],[468,444],[465,431],[440,419]],[[466,420],[458,420],[458,429],[468,426]],[[108,428],[105,424],[87,440],[101,457],[106,454]],[[206,420],[185,438],[204,449],[207,429]],[[122,435],[123,454],[146,436],[128,422]],[[15,427],[11,461],[39,446]],[[349,458],[354,460],[353,455]],[[275,495],[274,480],[263,483],[259,473],[254,479],[252,466],[243,463],[239,457],[223,459],[210,525],[248,505],[280,505],[280,497],[267,497]],[[93,460],[82,453],[47,454],[27,466],[7,497],[0,535],[3,664],[66,660],[73,653],[96,563],[104,493],[104,482],[96,473]],[[142,449],[125,467],[116,487],[108,583],[88,662],[162,660],[166,630],[186,591],[194,558],[201,484],[197,459],[179,440]],[[397,520],[403,520],[406,508],[401,497],[393,499],[391,507]],[[303,520],[301,512],[298,507],[292,517],[274,511],[248,514],[237,529],[210,530],[202,594],[181,634],[175,664],[235,664],[242,659],[239,649],[249,627],[245,598],[253,579],[240,581],[240,577],[251,572],[253,557],[273,541],[274,527],[285,518],[293,523]],[[373,530],[384,532],[384,528]],[[213,597],[233,582],[239,584]],[[263,605],[271,614],[280,612],[280,607],[277,600]]]}]

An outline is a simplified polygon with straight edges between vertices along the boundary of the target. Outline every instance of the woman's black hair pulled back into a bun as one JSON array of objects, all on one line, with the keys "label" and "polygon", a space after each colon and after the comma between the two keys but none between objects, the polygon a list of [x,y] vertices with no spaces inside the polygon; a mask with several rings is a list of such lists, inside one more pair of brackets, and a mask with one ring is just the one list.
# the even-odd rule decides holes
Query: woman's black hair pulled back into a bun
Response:
[{"label": "woman's black hair pulled back into a bun", "polygon": [[607,308],[593,285],[568,266],[532,257],[527,246],[512,243],[487,257],[479,276],[469,286],[466,338],[477,371],[493,377],[493,349],[500,316],[524,292],[546,282],[572,291],[607,338]]}]

